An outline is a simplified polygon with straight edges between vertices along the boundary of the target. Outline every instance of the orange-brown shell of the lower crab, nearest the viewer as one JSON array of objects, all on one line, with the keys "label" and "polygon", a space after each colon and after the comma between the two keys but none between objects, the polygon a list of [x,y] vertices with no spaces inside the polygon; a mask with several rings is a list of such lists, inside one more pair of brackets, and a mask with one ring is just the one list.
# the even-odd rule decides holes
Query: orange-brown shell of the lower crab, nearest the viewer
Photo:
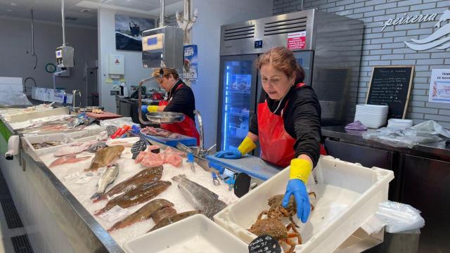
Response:
[{"label": "orange-brown shell of the lower crab, nearest the viewer", "polygon": [[249,229],[251,233],[257,236],[270,235],[276,240],[288,239],[288,229],[277,219],[260,219]]}]

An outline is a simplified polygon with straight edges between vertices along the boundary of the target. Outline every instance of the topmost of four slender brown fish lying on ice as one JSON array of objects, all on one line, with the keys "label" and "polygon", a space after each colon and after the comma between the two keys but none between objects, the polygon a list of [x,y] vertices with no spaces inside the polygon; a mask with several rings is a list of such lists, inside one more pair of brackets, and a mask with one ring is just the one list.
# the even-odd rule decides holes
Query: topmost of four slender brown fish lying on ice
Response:
[{"label": "topmost of four slender brown fish lying on ice", "polygon": [[122,181],[115,185],[105,194],[101,195],[98,200],[94,200],[94,203],[100,200],[105,200],[107,197],[113,197],[115,195],[122,195],[123,193],[127,193],[129,190],[134,190],[143,183],[158,181],[161,179],[161,176],[162,166],[143,169],[136,175],[131,176],[129,179],[126,179],[125,181]]}]

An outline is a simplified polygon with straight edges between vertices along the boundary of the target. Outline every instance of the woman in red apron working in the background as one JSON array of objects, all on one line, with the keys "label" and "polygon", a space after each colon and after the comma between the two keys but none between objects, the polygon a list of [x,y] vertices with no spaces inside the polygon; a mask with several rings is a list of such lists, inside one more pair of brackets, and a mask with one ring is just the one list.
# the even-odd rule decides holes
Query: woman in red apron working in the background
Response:
[{"label": "woman in red apron working in the background", "polygon": [[181,112],[185,115],[179,123],[161,124],[161,128],[177,134],[191,136],[200,143],[200,135],[195,127],[195,98],[192,89],[179,79],[179,74],[174,69],[163,68],[155,70],[153,77],[158,77],[158,83],[167,91],[165,100],[158,105],[142,105],[142,112]]}]

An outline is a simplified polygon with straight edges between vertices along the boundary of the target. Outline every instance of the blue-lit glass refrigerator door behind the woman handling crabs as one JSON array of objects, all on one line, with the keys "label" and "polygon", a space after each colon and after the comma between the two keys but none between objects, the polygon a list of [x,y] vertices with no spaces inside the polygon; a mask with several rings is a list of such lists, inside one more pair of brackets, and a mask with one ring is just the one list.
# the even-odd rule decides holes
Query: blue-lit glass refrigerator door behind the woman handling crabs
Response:
[{"label": "blue-lit glass refrigerator door behind the woman handling crabs", "polygon": [[218,150],[238,148],[255,112],[256,55],[221,57]]}]

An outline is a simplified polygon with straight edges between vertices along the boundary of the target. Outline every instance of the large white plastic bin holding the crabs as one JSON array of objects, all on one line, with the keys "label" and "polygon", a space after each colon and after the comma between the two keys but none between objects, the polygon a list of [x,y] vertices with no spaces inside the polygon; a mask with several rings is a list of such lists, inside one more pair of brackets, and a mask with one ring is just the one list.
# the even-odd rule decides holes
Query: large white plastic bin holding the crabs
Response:
[{"label": "large white plastic bin holding the crabs", "polygon": [[[303,238],[303,245],[297,245],[295,252],[333,252],[375,213],[378,203],[387,200],[389,182],[394,179],[392,171],[370,169],[330,156],[320,158],[314,174],[317,183],[308,185],[317,196],[312,202],[314,211],[306,224],[294,217]],[[214,221],[250,243],[257,236],[247,229],[259,213],[269,209],[269,197],[285,193],[288,180],[289,169],[284,169],[216,214]],[[283,221],[288,223],[287,219]]]}]

